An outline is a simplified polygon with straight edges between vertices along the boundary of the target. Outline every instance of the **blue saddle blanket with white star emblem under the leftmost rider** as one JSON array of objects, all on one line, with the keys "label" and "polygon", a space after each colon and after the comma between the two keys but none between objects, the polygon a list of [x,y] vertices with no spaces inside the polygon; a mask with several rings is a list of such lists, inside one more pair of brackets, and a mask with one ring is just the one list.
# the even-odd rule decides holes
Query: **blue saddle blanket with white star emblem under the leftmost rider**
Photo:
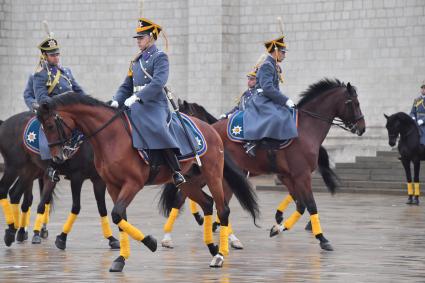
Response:
[{"label": "blue saddle blanket with white star emblem under the leftmost rider", "polygon": [[[38,121],[36,117],[32,117],[27,122],[24,129],[24,134],[22,137],[25,147],[30,152],[35,154],[40,154],[40,130],[41,130],[40,128],[41,128],[40,121]],[[79,143],[79,141],[82,138],[83,138],[83,135],[81,133],[79,133],[78,131],[73,132],[69,147],[74,148],[75,145]],[[78,151],[78,148],[75,148],[73,151],[74,152],[72,153],[72,155],[74,155]]]}]

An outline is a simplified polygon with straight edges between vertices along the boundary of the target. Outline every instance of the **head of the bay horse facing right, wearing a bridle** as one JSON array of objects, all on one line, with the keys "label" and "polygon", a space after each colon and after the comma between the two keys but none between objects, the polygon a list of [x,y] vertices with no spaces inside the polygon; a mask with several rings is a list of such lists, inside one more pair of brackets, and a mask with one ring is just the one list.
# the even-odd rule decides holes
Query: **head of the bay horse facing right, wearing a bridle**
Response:
[{"label": "head of the bay horse facing right, wearing a bridle", "polygon": [[361,136],[366,131],[366,122],[360,109],[357,91],[350,83],[345,88],[344,97],[345,100],[338,107],[336,116],[353,134]]}]

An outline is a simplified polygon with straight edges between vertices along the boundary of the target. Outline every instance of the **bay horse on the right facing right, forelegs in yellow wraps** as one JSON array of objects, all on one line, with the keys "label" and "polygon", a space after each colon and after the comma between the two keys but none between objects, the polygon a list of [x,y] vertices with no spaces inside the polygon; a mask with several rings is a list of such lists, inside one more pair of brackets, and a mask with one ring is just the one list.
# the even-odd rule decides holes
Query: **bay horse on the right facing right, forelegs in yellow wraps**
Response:
[{"label": "bay horse on the right facing right, forelegs in yellow wraps", "polygon": [[[213,127],[222,138],[226,151],[240,168],[253,175],[277,174],[294,199],[296,211],[283,225],[274,225],[270,237],[290,230],[307,208],[313,235],[319,240],[322,249],[330,251],[333,250],[332,245],[324,237],[320,226],[311,188],[311,173],[317,167],[320,145],[331,125],[338,125],[361,136],[366,130],[366,123],[355,87],[338,79],[325,78],[310,85],[301,94],[297,109],[298,137],[292,144],[274,152],[259,148],[254,158],[245,153],[242,143],[229,139],[228,119],[218,121]],[[339,120],[334,122],[334,119]],[[273,163],[270,162],[270,154],[273,154]]]}]

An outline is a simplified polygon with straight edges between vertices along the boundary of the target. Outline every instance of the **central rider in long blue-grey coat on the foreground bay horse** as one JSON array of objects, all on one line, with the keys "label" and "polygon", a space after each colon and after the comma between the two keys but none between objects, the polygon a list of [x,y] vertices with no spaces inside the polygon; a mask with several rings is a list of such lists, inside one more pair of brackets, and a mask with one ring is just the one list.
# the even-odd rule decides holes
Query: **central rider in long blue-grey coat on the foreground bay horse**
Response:
[{"label": "central rider in long blue-grey coat on the foreground bay horse", "polygon": [[[162,27],[146,19],[138,20],[136,35],[140,53],[131,61],[123,84],[113,97],[111,106],[123,104],[130,108],[131,119],[138,131],[133,131],[133,146],[149,153],[162,152],[173,171],[176,186],[185,183],[176,154],[180,155],[179,125],[172,119],[164,87],[168,80],[169,61],[155,42]],[[139,135],[137,132],[141,133]],[[184,136],[183,136],[184,139]]]}]

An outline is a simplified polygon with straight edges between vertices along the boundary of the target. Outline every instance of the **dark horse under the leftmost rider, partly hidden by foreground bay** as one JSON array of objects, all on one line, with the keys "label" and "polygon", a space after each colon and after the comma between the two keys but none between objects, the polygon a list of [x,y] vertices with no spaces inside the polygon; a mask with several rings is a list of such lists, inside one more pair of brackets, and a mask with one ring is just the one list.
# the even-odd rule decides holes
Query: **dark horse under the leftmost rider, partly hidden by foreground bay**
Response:
[{"label": "dark horse under the leftmost rider, partly hidden by foreground bay", "polygon": [[[41,243],[40,221],[38,221],[45,212],[45,204],[52,198],[52,192],[55,183],[50,181],[45,174],[48,162],[43,161],[40,155],[32,153],[25,149],[23,143],[23,132],[27,122],[34,117],[31,112],[22,112],[9,119],[0,122],[0,153],[5,162],[4,174],[0,180],[0,201],[7,201],[7,193],[10,190],[12,205],[19,204],[24,195],[22,212],[27,213],[32,203],[32,186],[35,179],[43,180],[40,186],[43,187],[40,197],[40,204],[37,207],[37,220],[34,225],[34,244]],[[113,249],[119,249],[119,241],[112,236],[107,220],[107,210],[105,204],[106,185],[94,167],[93,150],[88,143],[83,143],[78,152],[72,159],[58,166],[59,174],[65,175],[65,178],[71,182],[72,191],[72,209],[67,223],[64,225],[63,232],[56,237],[56,246],[59,249],[66,248],[67,234],[72,228],[76,216],[81,209],[80,196],[84,180],[90,179],[93,183],[93,190],[97,202],[97,207],[102,221],[104,236],[109,240],[109,246]],[[10,246],[15,241],[17,228],[14,224],[15,217],[10,217],[10,212],[6,212],[6,229],[4,241]],[[9,217],[8,217],[9,215]],[[18,231],[18,241],[25,239],[25,230],[21,227]],[[47,236],[47,234],[45,235]]]}]

